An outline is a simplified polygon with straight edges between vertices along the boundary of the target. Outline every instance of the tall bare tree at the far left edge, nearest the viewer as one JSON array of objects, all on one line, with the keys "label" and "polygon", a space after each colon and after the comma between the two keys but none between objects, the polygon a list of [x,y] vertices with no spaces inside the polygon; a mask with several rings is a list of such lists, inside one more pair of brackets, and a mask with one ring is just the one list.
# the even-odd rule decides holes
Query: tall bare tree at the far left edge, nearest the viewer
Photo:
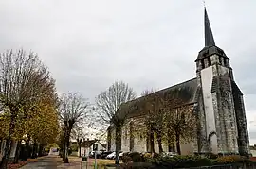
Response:
[{"label": "tall bare tree at the far left edge, nearest the viewer", "polygon": [[33,53],[23,50],[0,54],[0,102],[9,110],[9,135],[0,168],[7,168],[15,121],[29,118],[27,111],[46,95],[52,78],[46,66]]}]

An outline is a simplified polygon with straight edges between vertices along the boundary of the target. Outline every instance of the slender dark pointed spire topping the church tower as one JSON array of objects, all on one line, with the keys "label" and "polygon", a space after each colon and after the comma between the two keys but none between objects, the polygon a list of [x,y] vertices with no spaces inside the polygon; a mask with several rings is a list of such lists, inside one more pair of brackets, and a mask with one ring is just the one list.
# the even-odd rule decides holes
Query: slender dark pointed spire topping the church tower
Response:
[{"label": "slender dark pointed spire topping the church tower", "polygon": [[214,38],[210,28],[210,21],[208,18],[207,10],[205,8],[205,46],[214,46]]}]

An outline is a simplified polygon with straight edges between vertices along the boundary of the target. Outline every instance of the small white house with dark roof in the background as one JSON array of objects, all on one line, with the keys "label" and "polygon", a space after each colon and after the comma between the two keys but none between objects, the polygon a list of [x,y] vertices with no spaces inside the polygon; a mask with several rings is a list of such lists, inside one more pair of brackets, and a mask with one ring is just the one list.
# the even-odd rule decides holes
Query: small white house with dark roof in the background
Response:
[{"label": "small white house with dark roof in the background", "polygon": [[[89,140],[87,139],[86,141],[82,142],[81,145],[81,155],[87,156],[89,152],[94,151],[94,146],[96,147],[96,151],[105,151],[106,150],[106,145],[101,144],[99,140]],[[78,149],[78,156],[80,154],[80,150]]]}]

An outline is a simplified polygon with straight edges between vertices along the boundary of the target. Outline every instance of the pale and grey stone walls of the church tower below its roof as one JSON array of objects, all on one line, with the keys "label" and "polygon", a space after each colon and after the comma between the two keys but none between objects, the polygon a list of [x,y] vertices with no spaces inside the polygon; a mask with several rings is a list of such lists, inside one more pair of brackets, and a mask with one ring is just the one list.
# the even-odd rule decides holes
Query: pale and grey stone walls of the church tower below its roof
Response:
[{"label": "pale and grey stone walls of the church tower below its roof", "polygon": [[[233,75],[229,75],[232,73],[229,60],[224,64],[218,55],[209,57],[210,62],[208,59],[203,60],[205,68],[201,62],[197,62],[198,88],[201,88],[203,98],[198,97],[198,119],[201,123],[198,131],[198,149],[202,146],[201,151],[208,151],[209,146],[209,151],[213,153],[236,153],[238,131],[231,88]],[[220,60],[222,62],[219,62]],[[203,142],[204,139],[207,142]]]}]

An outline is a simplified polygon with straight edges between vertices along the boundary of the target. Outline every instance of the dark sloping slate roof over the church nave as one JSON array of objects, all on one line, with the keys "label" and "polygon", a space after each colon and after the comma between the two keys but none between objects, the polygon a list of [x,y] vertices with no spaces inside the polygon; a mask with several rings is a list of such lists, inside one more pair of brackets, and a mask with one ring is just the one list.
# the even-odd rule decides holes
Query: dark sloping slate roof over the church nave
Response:
[{"label": "dark sloping slate roof over the church nave", "polygon": [[121,117],[131,118],[145,114],[144,108],[150,97],[160,97],[170,102],[179,100],[174,107],[188,105],[197,102],[198,85],[197,79],[192,78],[188,81],[179,83],[172,87],[139,97],[135,100],[126,102],[119,107],[117,113]]}]

